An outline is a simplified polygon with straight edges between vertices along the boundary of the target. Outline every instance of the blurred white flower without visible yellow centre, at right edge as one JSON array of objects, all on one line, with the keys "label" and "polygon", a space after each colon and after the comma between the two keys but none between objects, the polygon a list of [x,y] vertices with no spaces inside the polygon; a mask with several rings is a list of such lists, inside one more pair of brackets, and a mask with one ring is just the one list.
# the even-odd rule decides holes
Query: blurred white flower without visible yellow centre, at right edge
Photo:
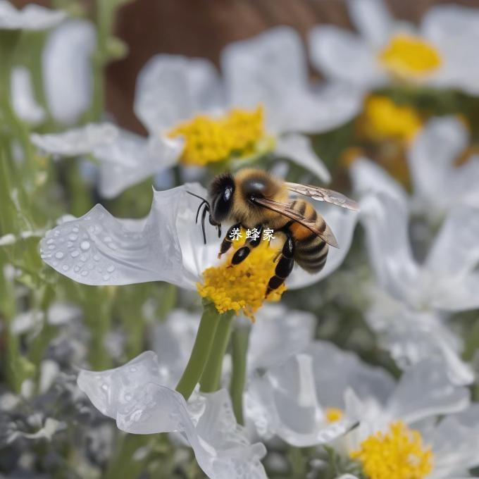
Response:
[{"label": "blurred white flower without visible yellow centre, at right edge", "polygon": [[394,182],[381,182],[383,175],[365,160],[352,169],[353,181],[364,192],[366,178],[371,180],[370,193],[361,201],[361,220],[379,287],[371,290],[366,318],[400,366],[439,355],[453,381],[471,382],[471,369],[460,359],[461,341],[444,321],[448,313],[479,306],[479,209],[452,209],[418,263],[409,239],[406,197]]}]

